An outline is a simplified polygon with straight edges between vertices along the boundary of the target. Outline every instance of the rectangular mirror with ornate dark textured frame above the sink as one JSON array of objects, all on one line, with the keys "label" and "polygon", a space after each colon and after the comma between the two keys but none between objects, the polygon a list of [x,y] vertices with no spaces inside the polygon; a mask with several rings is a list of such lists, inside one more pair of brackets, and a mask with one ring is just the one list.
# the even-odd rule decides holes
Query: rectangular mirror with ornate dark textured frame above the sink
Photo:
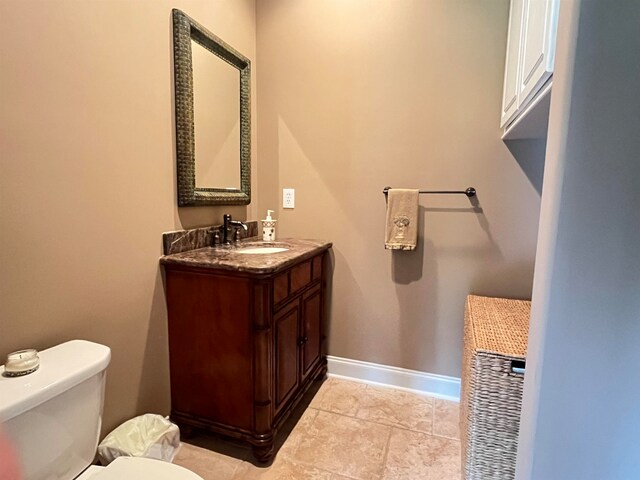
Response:
[{"label": "rectangular mirror with ornate dark textured frame above the sink", "polygon": [[178,206],[251,202],[251,62],[173,9]]}]

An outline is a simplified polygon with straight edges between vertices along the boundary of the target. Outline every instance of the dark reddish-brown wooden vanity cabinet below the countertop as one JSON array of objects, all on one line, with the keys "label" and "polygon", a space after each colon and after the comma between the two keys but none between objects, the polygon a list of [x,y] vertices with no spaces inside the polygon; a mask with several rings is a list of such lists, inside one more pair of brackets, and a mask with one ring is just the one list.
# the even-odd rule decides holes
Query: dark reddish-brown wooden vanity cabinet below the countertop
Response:
[{"label": "dark reddish-brown wooden vanity cabinet below the countertop", "polygon": [[273,274],[165,265],[173,421],[272,458],[279,426],[327,371],[327,255]]}]

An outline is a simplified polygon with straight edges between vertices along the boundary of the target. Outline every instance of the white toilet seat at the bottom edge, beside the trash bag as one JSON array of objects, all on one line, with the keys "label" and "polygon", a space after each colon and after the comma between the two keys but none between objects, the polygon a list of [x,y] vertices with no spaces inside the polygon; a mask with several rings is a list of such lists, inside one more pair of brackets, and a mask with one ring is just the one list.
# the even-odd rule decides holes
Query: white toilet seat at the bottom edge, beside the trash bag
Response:
[{"label": "white toilet seat at the bottom edge, beside the trash bag", "polygon": [[151,458],[118,457],[107,467],[91,470],[76,480],[203,480],[186,468]]}]

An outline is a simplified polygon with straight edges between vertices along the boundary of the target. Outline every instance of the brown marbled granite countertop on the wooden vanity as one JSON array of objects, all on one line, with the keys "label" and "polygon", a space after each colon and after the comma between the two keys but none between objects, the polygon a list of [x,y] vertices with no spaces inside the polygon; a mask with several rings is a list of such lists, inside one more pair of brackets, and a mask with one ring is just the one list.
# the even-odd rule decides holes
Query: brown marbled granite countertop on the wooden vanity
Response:
[{"label": "brown marbled granite countertop on the wooden vanity", "polygon": [[[182,253],[163,255],[163,265],[181,265],[186,267],[232,270],[248,273],[274,273],[279,270],[310,258],[317,253],[331,248],[331,242],[324,240],[301,240],[285,238],[275,242],[263,242],[259,237],[248,238],[233,246],[204,247]],[[243,248],[284,247],[285,252],[260,255],[241,254]]]}]

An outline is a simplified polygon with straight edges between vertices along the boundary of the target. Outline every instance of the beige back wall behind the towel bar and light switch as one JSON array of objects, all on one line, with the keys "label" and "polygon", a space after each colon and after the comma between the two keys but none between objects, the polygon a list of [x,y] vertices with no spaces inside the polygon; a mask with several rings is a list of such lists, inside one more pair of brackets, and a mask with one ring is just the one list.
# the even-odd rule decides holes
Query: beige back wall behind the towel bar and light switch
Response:
[{"label": "beige back wall behind the towel bar and light switch", "polygon": [[[257,6],[259,213],[334,242],[329,353],[459,376],[465,296],[531,295],[540,198],[498,129],[508,1]],[[391,253],[386,185],[473,185],[478,210],[422,196],[418,250]]]}]

